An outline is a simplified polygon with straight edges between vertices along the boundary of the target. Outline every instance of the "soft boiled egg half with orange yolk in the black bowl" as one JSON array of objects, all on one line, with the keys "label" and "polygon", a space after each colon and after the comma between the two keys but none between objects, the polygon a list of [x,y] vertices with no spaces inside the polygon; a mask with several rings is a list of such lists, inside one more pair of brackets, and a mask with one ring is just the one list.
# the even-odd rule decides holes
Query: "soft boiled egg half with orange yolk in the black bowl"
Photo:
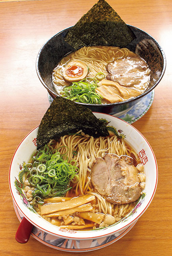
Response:
[{"label": "soft boiled egg half with orange yolk in the black bowl", "polygon": [[78,82],[88,74],[87,65],[80,60],[70,61],[63,70],[63,77],[67,82]]}]

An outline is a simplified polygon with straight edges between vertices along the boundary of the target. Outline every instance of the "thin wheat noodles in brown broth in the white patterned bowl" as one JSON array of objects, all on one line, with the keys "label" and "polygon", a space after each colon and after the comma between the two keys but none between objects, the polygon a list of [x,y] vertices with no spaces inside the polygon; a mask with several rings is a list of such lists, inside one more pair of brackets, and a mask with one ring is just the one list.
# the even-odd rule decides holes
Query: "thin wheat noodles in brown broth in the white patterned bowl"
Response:
[{"label": "thin wheat noodles in brown broth in the white patterned bowl", "polygon": [[[53,145],[55,141],[51,140],[49,144]],[[75,196],[93,194],[96,196],[98,211],[104,214],[111,214],[117,219],[123,218],[131,211],[134,204],[113,205],[99,193],[94,192],[90,182],[90,171],[95,158],[104,157],[106,153],[113,153],[119,156],[125,154],[131,156],[133,154],[138,160],[137,154],[125,144],[125,140],[119,140],[116,135],[99,138],[66,135],[56,143],[55,149],[59,149],[61,154],[67,152],[68,162],[75,160],[76,166],[79,168],[79,181],[77,184],[72,185]],[[72,153],[74,151],[77,152],[76,155]],[[71,193],[71,191],[68,191],[66,196],[71,196]]]}]

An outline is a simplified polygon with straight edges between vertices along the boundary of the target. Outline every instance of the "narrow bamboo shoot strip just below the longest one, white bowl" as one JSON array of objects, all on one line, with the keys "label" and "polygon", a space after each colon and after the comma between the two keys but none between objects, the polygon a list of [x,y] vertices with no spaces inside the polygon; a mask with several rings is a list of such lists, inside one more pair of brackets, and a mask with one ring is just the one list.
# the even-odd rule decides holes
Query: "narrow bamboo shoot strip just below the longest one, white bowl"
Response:
[{"label": "narrow bamboo shoot strip just below the longest one, white bowl", "polygon": [[74,212],[92,211],[92,209],[93,209],[92,204],[88,203],[88,204],[83,204],[83,205],[80,205],[78,207],[74,207],[71,209],[50,213],[50,214],[46,215],[46,217],[51,218],[51,217],[64,216],[64,215],[72,214]]}]

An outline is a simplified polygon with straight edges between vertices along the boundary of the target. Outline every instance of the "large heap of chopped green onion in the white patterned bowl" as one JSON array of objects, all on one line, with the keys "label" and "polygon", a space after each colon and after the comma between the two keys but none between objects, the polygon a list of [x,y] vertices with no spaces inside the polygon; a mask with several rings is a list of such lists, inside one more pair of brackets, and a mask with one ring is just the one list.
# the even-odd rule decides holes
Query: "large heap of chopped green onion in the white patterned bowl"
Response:
[{"label": "large heap of chopped green onion in the white patterned bowl", "polygon": [[60,154],[59,149],[54,150],[45,145],[33,153],[32,164],[24,166],[25,177],[34,188],[33,208],[37,203],[42,204],[44,198],[63,196],[72,188],[69,187],[70,181],[73,182],[79,169],[76,167],[76,161],[72,160],[68,163],[67,155]]}]

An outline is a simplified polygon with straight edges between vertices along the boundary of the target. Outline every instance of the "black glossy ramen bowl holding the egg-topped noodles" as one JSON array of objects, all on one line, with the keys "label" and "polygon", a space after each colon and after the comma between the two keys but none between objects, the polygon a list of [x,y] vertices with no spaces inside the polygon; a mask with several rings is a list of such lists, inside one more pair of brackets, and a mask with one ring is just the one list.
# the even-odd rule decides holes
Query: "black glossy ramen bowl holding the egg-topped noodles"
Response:
[{"label": "black glossy ramen bowl holding the egg-topped noodles", "polygon": [[[131,109],[145,95],[151,92],[162,79],[166,68],[166,58],[161,46],[154,38],[152,38],[152,36],[143,30],[131,25],[128,26],[134,32],[136,38],[128,44],[126,48],[139,54],[139,56],[147,62],[151,70],[150,84],[147,90],[143,92],[143,94],[123,102],[111,104],[78,104],[82,104],[94,112],[102,112],[111,115],[117,113],[124,114],[124,112],[127,112],[127,110]],[[67,28],[51,37],[42,46],[37,55],[37,75],[52,98],[60,96],[52,82],[53,69],[66,54],[74,51],[74,48],[64,41],[64,37],[68,33],[69,29],[70,28]]]}]

